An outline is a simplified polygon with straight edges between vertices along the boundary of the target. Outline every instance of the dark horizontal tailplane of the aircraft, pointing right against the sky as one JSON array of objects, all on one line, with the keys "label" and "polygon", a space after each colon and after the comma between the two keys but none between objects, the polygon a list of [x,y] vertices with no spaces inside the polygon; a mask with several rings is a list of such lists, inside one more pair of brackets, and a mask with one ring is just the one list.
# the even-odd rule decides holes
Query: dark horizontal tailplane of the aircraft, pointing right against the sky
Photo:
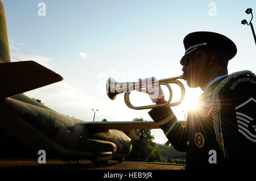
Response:
[{"label": "dark horizontal tailplane of the aircraft, pointing right against the sky", "polygon": [[0,98],[8,98],[62,80],[59,74],[34,61],[3,63],[0,64]]}]

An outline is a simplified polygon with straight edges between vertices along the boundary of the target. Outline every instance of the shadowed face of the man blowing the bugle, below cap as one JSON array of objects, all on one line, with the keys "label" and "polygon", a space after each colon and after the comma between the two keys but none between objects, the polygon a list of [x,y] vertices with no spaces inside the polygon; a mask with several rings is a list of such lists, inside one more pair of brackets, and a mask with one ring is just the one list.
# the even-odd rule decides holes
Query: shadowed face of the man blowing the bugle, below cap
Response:
[{"label": "shadowed face of the man blowing the bugle, below cap", "polygon": [[187,55],[187,64],[183,66],[182,71],[184,71],[189,87],[195,88],[203,85],[208,58],[209,53],[204,50],[195,50]]}]

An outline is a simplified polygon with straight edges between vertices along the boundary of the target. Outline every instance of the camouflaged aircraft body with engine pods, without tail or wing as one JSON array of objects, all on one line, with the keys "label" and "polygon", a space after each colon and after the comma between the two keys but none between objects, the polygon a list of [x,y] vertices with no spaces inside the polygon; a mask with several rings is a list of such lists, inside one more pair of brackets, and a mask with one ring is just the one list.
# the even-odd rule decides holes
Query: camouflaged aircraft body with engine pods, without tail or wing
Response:
[{"label": "camouflaged aircraft body with engine pods, without tail or wing", "polygon": [[[25,98],[29,100],[19,95],[19,99]],[[90,127],[86,121],[16,99],[1,100],[1,127],[35,150],[45,150],[64,161],[109,160],[131,151],[131,139],[122,131]]]}]

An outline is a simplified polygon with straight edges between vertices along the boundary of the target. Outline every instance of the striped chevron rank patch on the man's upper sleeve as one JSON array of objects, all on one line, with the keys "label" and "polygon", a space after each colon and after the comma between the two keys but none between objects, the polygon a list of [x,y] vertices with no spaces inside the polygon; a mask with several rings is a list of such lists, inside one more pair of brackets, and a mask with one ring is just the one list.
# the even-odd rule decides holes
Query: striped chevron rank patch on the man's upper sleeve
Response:
[{"label": "striped chevron rank patch on the man's upper sleeve", "polygon": [[250,98],[236,107],[238,132],[248,140],[256,142],[256,100]]}]

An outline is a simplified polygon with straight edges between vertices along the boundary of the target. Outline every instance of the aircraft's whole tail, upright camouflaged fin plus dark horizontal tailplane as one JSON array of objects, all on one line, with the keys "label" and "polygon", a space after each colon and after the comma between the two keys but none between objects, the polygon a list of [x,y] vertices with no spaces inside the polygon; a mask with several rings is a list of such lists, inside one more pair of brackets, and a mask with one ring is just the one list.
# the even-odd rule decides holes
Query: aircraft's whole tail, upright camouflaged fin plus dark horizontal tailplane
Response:
[{"label": "aircraft's whole tail, upright camouflaged fin plus dark horizontal tailplane", "polygon": [[62,80],[59,74],[34,61],[11,62],[5,6],[0,0],[0,98],[8,98]]}]

